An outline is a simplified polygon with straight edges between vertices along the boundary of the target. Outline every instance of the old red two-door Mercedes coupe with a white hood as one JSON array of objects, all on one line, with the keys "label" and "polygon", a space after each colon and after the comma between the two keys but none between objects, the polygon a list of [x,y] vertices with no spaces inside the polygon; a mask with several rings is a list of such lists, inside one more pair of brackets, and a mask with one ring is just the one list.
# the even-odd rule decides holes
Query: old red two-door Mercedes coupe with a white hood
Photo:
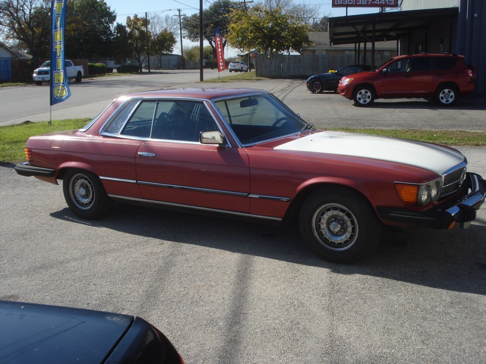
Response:
[{"label": "old red two-door Mercedes coupe with a white hood", "polygon": [[77,131],[29,138],[25,153],[17,173],[63,180],[81,218],[118,200],[298,221],[316,254],[340,262],[374,248],[382,224],[467,228],[485,200],[485,182],[456,149],[316,131],[254,89],[122,96]]}]

